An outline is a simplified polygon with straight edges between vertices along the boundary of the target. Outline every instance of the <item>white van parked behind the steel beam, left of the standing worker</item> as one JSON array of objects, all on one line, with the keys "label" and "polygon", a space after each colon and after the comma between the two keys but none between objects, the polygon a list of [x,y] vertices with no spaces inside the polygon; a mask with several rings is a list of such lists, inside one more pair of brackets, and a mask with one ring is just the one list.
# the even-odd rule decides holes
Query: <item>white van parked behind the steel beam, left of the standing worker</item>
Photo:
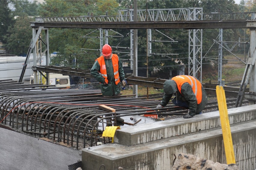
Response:
[{"label": "white van parked behind the steel beam, left of the standing worker", "polygon": [[[45,75],[45,74],[44,74]],[[46,79],[42,77],[42,83],[46,84]],[[30,84],[34,84],[34,76],[30,76]],[[67,75],[49,73],[49,85],[55,85],[56,87],[70,88],[70,79]]]}]

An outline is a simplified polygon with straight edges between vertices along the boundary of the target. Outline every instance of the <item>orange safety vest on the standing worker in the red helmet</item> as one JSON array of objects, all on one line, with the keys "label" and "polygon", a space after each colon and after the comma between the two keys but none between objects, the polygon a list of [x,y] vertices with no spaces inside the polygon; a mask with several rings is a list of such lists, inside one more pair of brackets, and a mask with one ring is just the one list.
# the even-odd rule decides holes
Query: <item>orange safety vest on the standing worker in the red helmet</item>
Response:
[{"label": "orange safety vest on the standing worker in the red helmet", "polygon": [[[104,77],[105,82],[108,83],[106,64],[105,64],[103,55],[100,56],[99,58],[97,58],[96,60],[99,62],[99,65],[100,65],[99,74],[102,77]],[[112,60],[112,64],[113,64],[115,84],[117,85],[120,82],[119,72],[118,72],[118,56],[116,54],[112,54],[111,60]]]}]

